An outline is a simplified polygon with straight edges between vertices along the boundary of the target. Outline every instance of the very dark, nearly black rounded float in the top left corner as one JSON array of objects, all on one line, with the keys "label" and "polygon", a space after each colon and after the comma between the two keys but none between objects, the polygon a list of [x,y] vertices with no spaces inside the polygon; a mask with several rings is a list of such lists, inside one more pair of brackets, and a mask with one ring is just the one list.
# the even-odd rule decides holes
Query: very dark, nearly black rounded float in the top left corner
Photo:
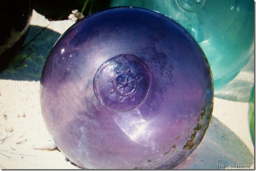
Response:
[{"label": "very dark, nearly black rounded float in the top left corner", "polygon": [[28,34],[31,0],[0,0],[0,71],[12,62]]}]

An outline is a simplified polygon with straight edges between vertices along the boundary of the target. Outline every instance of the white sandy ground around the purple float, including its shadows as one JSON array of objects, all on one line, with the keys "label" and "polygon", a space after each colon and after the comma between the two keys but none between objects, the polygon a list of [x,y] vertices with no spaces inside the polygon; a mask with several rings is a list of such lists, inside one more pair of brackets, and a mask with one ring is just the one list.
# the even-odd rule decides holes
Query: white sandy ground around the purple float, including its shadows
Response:
[{"label": "white sandy ground around the purple float, including its shadows", "polygon": [[[47,29],[0,73],[0,169],[78,169],[66,161],[51,141],[39,99],[44,61],[58,37],[72,24],[70,20],[49,22],[33,11],[26,42],[44,27]],[[29,58],[20,62],[31,52]],[[213,118],[206,135],[177,169],[218,169],[217,164],[251,165],[254,169],[248,122],[253,84],[252,56],[231,83],[215,92]]]}]

